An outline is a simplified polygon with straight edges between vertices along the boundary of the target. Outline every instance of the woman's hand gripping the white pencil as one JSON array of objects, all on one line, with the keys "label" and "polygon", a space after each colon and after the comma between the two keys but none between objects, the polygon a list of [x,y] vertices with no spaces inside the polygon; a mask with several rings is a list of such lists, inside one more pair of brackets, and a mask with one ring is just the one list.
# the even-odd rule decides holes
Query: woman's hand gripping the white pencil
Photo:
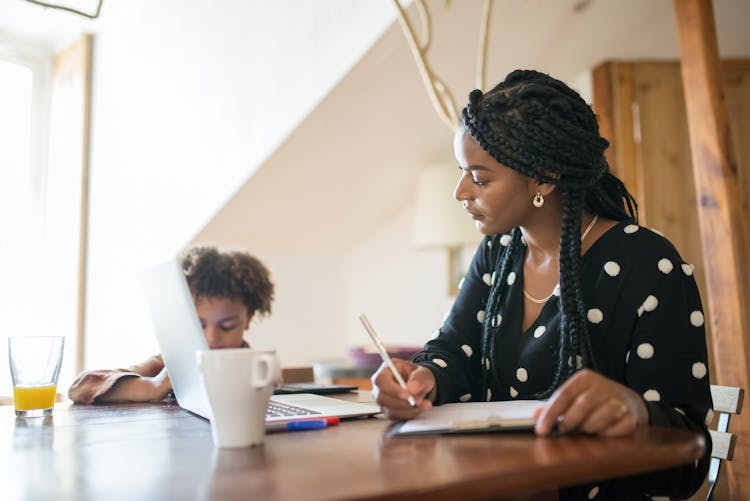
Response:
[{"label": "woman's hand gripping the white pencil", "polygon": [[[372,396],[383,408],[386,417],[411,419],[432,407],[435,393],[435,376],[432,371],[406,360],[393,359],[393,365],[406,382],[408,391],[401,388],[386,363],[381,364],[371,378]],[[409,396],[416,401],[414,407],[409,405]]]}]

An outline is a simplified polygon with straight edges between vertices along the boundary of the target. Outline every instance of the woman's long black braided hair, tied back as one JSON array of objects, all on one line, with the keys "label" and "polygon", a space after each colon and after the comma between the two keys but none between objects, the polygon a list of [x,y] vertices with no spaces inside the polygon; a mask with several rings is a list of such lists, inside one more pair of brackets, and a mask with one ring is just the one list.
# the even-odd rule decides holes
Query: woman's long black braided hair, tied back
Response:
[{"label": "woman's long black braided hair, tied back", "polygon": [[[461,112],[461,125],[495,160],[540,183],[558,187],[562,200],[560,235],[560,337],[558,359],[547,398],[579,367],[596,368],[586,327],[581,292],[581,213],[583,209],[616,221],[637,222],[638,206],[625,185],[609,170],[604,156],[609,142],[599,135],[591,107],[563,82],[532,70],[516,70],[483,94],[473,90]],[[492,334],[511,264],[523,252],[515,228],[495,268],[482,345]],[[485,385],[487,382],[485,381]]]}]

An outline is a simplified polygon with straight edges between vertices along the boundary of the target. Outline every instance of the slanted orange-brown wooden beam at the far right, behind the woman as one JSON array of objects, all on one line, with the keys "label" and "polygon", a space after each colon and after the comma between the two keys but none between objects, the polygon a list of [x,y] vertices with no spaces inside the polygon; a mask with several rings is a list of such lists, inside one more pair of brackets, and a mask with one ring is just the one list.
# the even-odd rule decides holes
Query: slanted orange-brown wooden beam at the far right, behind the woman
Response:
[{"label": "slanted orange-brown wooden beam at the far right, behind the woman", "polygon": [[[737,167],[732,161],[729,121],[719,70],[711,0],[674,0],[682,81],[693,156],[701,242],[718,383],[748,388],[747,319],[742,281],[747,256]],[[747,405],[747,404],[746,404]],[[733,421],[737,454],[728,464],[729,492],[750,492],[750,413]]]}]

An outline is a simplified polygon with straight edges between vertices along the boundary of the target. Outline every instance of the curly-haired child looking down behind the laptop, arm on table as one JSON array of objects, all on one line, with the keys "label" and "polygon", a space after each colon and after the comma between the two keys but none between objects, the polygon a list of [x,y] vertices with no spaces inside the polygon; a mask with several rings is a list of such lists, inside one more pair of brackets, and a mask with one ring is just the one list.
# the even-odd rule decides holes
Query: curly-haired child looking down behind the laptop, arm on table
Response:
[{"label": "curly-haired child looking down behind the laptop, arm on table", "polygon": [[[274,286],[266,267],[245,252],[193,247],[182,258],[195,309],[211,349],[240,348],[250,321],[271,313]],[[162,400],[172,391],[160,355],[127,369],[84,371],[68,390],[76,403]]]}]

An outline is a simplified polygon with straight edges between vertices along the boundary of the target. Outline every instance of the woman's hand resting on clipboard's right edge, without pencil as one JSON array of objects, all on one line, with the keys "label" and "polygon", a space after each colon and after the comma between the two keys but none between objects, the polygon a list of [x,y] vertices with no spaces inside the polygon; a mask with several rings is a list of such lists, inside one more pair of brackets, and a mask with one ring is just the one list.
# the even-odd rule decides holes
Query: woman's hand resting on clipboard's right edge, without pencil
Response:
[{"label": "woman's hand resting on clipboard's right edge, without pencil", "polygon": [[537,435],[555,427],[561,433],[583,431],[604,436],[632,434],[648,423],[646,404],[627,386],[589,369],[575,373],[537,413]]}]

